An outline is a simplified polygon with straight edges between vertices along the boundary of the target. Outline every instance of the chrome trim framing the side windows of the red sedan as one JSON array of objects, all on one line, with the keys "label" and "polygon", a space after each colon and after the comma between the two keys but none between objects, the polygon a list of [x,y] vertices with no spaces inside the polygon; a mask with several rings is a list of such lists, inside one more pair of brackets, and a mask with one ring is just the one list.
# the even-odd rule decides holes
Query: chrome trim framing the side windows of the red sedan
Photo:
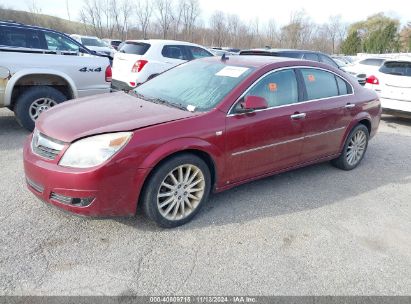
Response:
[{"label": "chrome trim framing the side windows of the red sedan", "polygon": [[[282,70],[294,70],[294,69],[314,69],[314,70],[321,70],[321,71],[325,71],[331,74],[334,74],[336,77],[340,77],[341,79],[343,79],[345,82],[347,82],[350,87],[351,87],[351,91],[352,93],[350,94],[342,94],[342,95],[336,95],[336,96],[330,96],[330,97],[325,97],[325,98],[317,98],[317,99],[310,99],[310,100],[305,100],[305,101],[301,101],[301,102],[295,102],[295,103],[290,103],[290,104],[286,104],[286,105],[281,105],[281,106],[274,106],[274,107],[269,107],[266,109],[261,109],[261,110],[255,110],[251,113],[257,113],[257,112],[262,112],[262,111],[267,111],[267,110],[272,110],[272,109],[276,109],[276,108],[283,108],[283,107],[289,107],[289,106],[293,106],[293,105],[297,105],[297,104],[305,104],[305,103],[309,103],[309,102],[314,102],[314,101],[321,101],[324,99],[330,99],[330,98],[337,98],[337,97],[343,97],[343,96],[352,96],[355,94],[355,90],[353,85],[351,84],[350,81],[347,80],[347,78],[324,68],[321,67],[312,67],[312,66],[293,66],[293,67],[283,67],[283,68],[278,68],[272,71],[269,71],[267,73],[265,73],[264,75],[262,75],[261,77],[259,77],[257,80],[255,80],[248,88],[247,90],[245,90],[243,92],[243,94],[241,94],[241,96],[239,98],[237,98],[237,100],[231,105],[230,109],[228,110],[227,116],[226,117],[232,117],[232,116],[237,116],[237,115],[245,115],[245,114],[249,114],[249,113],[232,113],[233,109],[235,108],[235,106],[237,105],[237,103],[264,77],[272,74],[272,73],[276,73]],[[298,83],[298,79],[296,77],[297,83]]]}]

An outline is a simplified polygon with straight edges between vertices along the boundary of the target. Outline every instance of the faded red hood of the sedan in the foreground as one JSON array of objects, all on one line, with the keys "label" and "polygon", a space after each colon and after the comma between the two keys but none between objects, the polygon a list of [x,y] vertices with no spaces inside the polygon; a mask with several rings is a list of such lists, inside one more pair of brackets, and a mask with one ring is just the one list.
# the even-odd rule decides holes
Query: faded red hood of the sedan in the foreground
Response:
[{"label": "faded red hood of the sedan in the foreground", "polygon": [[64,142],[119,131],[130,131],[196,115],[118,92],[65,102],[43,113],[36,128]]}]

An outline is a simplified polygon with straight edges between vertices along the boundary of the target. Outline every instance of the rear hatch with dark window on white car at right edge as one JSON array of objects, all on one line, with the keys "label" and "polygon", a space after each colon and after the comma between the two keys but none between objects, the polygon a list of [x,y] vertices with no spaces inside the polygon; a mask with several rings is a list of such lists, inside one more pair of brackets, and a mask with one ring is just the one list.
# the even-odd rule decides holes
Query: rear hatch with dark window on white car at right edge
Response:
[{"label": "rear hatch with dark window on white car at right edge", "polygon": [[388,61],[380,68],[382,98],[411,101],[411,62]]}]

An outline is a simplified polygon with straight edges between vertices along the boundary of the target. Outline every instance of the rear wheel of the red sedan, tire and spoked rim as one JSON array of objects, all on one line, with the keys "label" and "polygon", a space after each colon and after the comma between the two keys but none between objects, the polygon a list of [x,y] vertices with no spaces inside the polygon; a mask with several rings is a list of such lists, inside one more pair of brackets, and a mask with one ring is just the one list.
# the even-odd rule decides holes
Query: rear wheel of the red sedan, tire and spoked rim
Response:
[{"label": "rear wheel of the red sedan, tire and spoked rim", "polygon": [[370,134],[366,126],[362,124],[355,126],[344,143],[341,155],[332,160],[331,163],[346,171],[356,168],[367,151],[369,137]]}]

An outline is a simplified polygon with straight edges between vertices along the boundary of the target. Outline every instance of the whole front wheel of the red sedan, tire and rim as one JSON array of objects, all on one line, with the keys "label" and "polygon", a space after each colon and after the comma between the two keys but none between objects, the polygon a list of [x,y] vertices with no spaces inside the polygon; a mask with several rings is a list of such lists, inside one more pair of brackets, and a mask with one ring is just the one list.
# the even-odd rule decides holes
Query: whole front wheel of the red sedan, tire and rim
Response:
[{"label": "whole front wheel of the red sedan, tire and rim", "polygon": [[[194,174],[196,170],[199,171]],[[190,187],[197,191],[190,192]],[[207,164],[195,155],[181,154],[154,169],[145,183],[140,203],[147,217],[158,226],[173,228],[189,222],[200,211],[210,189]]]}]

